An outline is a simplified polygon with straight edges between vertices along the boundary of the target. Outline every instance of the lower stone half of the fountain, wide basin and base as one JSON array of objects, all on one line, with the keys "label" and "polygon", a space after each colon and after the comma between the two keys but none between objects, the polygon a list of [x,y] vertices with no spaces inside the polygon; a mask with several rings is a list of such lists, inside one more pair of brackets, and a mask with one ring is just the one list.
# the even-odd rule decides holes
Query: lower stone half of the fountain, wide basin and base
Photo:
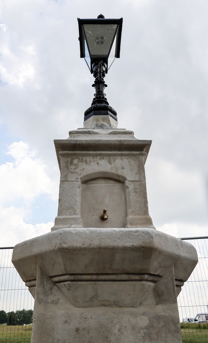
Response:
[{"label": "lower stone half of the fountain, wide basin and base", "polygon": [[12,262],[35,295],[33,343],[181,342],[177,294],[197,253],[180,238],[65,228],[16,245]]}]

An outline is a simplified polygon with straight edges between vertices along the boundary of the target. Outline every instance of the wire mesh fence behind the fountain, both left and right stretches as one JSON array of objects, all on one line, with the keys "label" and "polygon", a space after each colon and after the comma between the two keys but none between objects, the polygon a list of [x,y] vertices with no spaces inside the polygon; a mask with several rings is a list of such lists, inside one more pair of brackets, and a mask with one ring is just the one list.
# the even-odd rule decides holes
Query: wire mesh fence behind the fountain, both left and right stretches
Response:
[{"label": "wire mesh fence behind the fountain, both left and right stretches", "polygon": [[[208,237],[182,239],[195,246],[199,259],[178,296],[182,341],[208,343]],[[29,343],[34,299],[11,262],[12,252],[0,248],[0,343]]]}]

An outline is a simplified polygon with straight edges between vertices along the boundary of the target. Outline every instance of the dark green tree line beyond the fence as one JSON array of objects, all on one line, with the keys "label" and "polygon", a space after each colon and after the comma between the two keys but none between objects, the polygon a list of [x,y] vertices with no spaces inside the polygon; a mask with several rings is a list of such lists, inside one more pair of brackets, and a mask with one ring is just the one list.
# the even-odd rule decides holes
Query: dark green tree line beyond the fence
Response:
[{"label": "dark green tree line beyond the fence", "polygon": [[16,312],[0,311],[0,325],[24,325],[33,322],[33,310],[17,310]]}]

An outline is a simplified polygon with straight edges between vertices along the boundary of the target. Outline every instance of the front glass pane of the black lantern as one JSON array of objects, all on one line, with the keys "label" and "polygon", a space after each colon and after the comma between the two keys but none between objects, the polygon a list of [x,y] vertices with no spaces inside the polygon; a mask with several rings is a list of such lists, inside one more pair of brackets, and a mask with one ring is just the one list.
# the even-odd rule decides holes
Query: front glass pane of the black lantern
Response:
[{"label": "front glass pane of the black lantern", "polygon": [[117,24],[84,24],[84,32],[92,58],[107,58]]}]

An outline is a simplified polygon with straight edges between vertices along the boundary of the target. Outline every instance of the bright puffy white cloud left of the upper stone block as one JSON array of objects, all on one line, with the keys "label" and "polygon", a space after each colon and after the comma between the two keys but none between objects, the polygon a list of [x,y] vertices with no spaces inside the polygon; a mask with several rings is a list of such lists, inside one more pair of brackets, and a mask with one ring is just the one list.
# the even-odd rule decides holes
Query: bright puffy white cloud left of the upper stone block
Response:
[{"label": "bright puffy white cloud left of the upper stone block", "polygon": [[56,200],[57,188],[48,176],[46,164],[34,158],[35,151],[30,151],[22,141],[14,142],[8,150],[15,161],[0,166],[0,203],[23,199],[28,205],[43,193]]}]

